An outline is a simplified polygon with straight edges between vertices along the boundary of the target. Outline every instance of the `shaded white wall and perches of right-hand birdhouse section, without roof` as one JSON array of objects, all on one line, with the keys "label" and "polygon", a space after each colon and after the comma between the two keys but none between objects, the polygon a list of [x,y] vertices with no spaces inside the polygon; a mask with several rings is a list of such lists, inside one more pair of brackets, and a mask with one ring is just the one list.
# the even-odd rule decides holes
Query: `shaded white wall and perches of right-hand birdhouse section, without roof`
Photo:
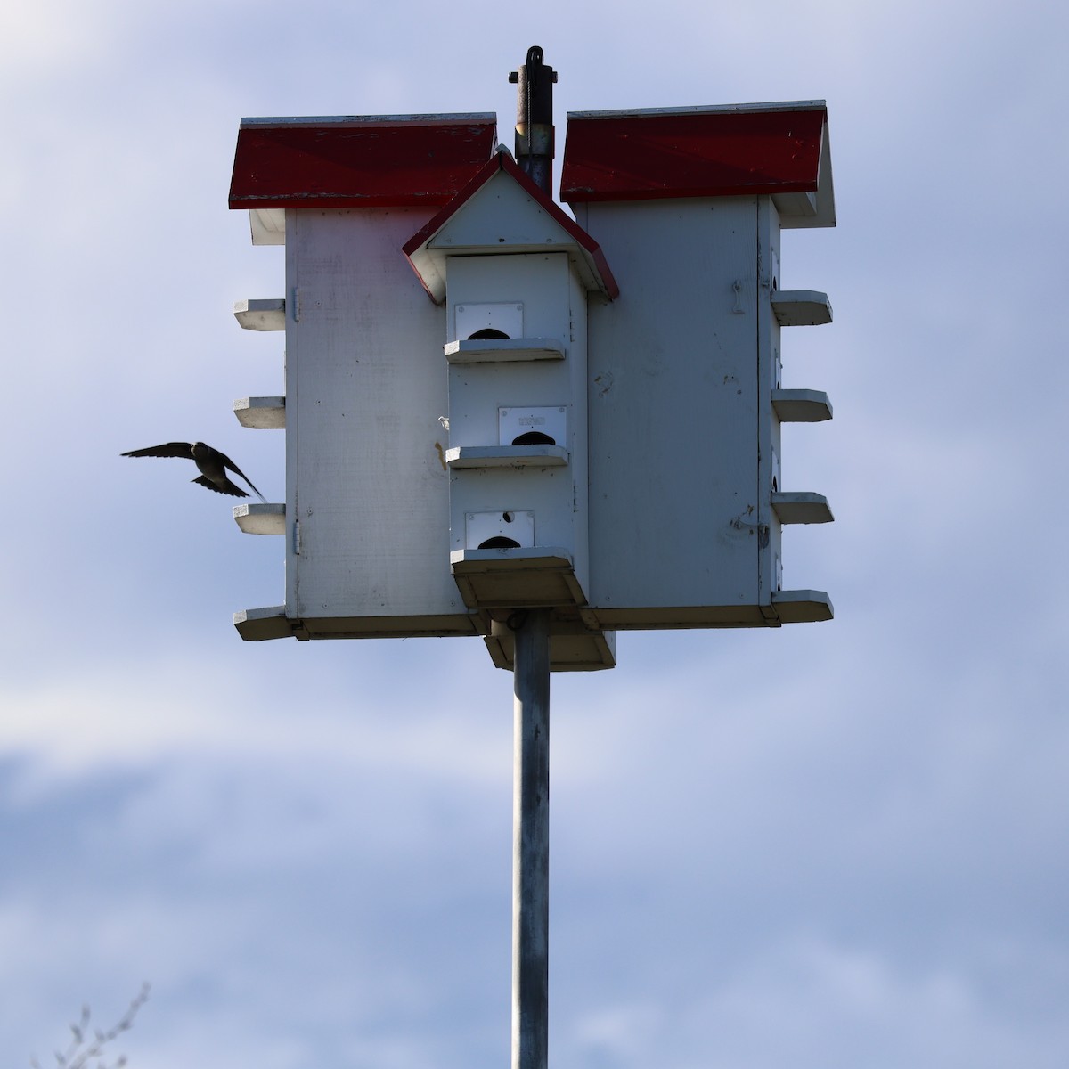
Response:
[{"label": "shaded white wall and perches of right-hand birdhouse section, without roof", "polygon": [[[793,419],[831,406],[781,389],[777,309],[826,296],[777,301],[771,197],[575,208],[620,285],[590,306],[590,615],[604,628],[785,622],[777,405]],[[791,620],[831,611],[826,594],[783,604]]]}]

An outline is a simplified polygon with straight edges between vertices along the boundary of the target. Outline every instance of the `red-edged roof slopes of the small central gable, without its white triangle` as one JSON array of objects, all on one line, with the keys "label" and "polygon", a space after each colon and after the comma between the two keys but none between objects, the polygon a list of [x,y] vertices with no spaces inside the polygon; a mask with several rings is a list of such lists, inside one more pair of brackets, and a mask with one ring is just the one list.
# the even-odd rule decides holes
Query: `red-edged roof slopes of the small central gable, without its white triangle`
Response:
[{"label": "red-edged roof slopes of the small central gable, without its white triangle", "polygon": [[474,247],[446,249],[435,247],[435,237],[445,230],[450,221],[455,219],[459,213],[471,203],[490,182],[500,173],[512,179],[520,189],[527,196],[528,203],[533,202],[536,211],[541,211],[547,216],[547,223],[551,237],[541,241],[538,245],[529,245],[527,242],[516,242],[507,234],[497,238],[497,244],[483,245],[479,251],[483,254],[500,254],[507,252],[531,251],[546,252],[559,249],[568,250],[573,262],[584,277],[588,289],[601,291],[610,300],[619,296],[620,288],[609,269],[601,246],[574,220],[559,204],[556,204],[539,186],[537,186],[528,175],[516,165],[508,152],[499,149],[493,159],[490,160],[468,183],[461,189],[452,200],[441,208],[428,223],[409,238],[402,251],[412,263],[413,269],[419,276],[423,288],[435,301],[445,298],[445,270],[444,260],[448,252],[465,254],[478,254]]}]

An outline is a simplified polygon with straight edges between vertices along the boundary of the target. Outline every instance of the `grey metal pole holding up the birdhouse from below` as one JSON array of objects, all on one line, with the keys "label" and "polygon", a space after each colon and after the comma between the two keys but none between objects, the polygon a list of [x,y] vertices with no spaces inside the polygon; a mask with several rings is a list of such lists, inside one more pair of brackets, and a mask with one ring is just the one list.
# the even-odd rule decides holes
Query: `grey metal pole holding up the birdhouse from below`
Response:
[{"label": "grey metal pole holding up the birdhouse from below", "polygon": [[546,1069],[549,609],[527,610],[515,626],[513,695],[512,1069]]}]

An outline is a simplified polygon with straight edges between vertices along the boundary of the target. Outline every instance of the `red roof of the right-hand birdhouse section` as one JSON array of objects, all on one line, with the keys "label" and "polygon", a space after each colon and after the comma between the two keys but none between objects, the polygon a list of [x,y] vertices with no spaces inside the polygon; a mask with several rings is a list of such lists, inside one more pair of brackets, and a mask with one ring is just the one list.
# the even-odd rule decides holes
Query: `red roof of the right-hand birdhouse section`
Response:
[{"label": "red roof of the right-hand birdhouse section", "polygon": [[823,100],[569,112],[561,200],[754,193],[785,227],[835,226]]}]

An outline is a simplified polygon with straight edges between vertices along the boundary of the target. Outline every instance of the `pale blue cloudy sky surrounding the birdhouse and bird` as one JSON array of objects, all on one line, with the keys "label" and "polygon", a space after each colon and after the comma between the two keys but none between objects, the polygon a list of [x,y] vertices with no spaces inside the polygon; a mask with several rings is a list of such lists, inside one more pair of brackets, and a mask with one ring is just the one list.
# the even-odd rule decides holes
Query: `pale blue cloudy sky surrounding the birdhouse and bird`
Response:
[{"label": "pale blue cloudy sky surrounding the birdhouse and bird", "polygon": [[511,679],[477,640],[243,644],[281,392],[235,299],[245,115],[496,111],[531,44],[564,112],[824,98],[839,226],[785,235],[836,322],[785,377],[831,527],[828,624],[624,634],[553,697],[551,1060],[1062,1069],[1069,763],[1059,538],[1067,15],[1024,0],[451,6],[10,0],[0,15],[7,511],[0,1051],[153,994],[135,1069],[499,1066]]}]

